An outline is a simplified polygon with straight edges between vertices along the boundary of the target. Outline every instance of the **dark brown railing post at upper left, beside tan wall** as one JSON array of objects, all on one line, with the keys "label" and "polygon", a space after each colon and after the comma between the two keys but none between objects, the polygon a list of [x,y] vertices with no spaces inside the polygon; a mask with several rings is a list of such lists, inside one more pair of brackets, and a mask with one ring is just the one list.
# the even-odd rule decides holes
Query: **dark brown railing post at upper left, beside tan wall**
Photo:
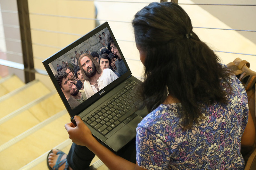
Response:
[{"label": "dark brown railing post at upper left, beside tan wall", "polygon": [[35,73],[31,71],[34,70],[34,60],[30,33],[28,0],[17,0],[17,6],[20,22],[25,83],[28,83],[35,79]]}]

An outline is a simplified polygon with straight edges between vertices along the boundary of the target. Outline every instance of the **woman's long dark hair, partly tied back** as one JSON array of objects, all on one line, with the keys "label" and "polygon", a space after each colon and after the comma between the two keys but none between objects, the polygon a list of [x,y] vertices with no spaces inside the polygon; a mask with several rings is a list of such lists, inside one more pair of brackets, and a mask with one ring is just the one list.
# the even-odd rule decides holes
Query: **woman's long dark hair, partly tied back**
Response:
[{"label": "woman's long dark hair, partly tied back", "polygon": [[[229,85],[230,71],[193,32],[191,20],[178,5],[151,3],[132,21],[136,45],[145,54],[143,106],[152,111],[168,93],[181,103],[184,129],[203,118],[200,103],[227,102],[220,80]],[[231,87],[228,87],[230,92]]]}]

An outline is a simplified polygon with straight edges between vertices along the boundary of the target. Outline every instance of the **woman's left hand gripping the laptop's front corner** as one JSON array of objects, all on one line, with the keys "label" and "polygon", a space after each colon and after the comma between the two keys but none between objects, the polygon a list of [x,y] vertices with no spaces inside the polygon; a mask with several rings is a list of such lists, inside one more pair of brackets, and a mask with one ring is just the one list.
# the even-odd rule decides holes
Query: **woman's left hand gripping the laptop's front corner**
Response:
[{"label": "woman's left hand gripping the laptop's front corner", "polygon": [[77,126],[72,122],[65,124],[65,129],[69,133],[69,138],[75,144],[89,147],[95,138],[92,136],[90,129],[84,124],[79,116],[75,116],[74,119]]}]

